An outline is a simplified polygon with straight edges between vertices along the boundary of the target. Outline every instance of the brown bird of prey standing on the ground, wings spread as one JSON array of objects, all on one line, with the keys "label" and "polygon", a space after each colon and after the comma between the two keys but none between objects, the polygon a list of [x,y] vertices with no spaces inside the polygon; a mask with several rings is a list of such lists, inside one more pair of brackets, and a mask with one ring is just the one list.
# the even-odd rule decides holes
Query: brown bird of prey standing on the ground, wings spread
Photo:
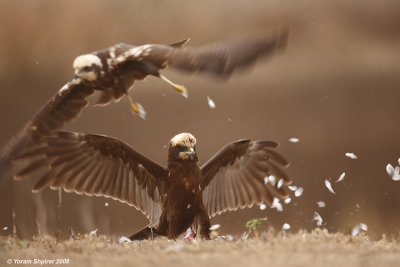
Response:
[{"label": "brown bird of prey standing on the ground, wings spread", "polygon": [[266,183],[266,176],[284,185],[292,182],[281,169],[288,162],[273,150],[274,141],[229,143],[199,167],[195,137],[181,133],[169,142],[166,168],[108,136],[57,132],[43,141],[21,154],[20,159],[31,162],[15,179],[45,167],[34,192],[64,188],[136,207],[150,223],[132,240],[151,233],[175,239],[192,225],[198,236],[209,238],[211,217],[288,196],[282,183]]}]

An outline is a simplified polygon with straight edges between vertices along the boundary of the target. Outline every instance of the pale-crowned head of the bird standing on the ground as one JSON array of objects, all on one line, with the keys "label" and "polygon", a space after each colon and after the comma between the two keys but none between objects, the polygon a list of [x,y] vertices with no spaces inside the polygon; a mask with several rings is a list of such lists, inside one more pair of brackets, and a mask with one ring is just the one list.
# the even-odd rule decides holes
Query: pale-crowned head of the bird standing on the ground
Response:
[{"label": "pale-crowned head of the bird standing on the ground", "polygon": [[197,162],[196,138],[190,133],[175,135],[169,142],[168,158],[169,160]]}]

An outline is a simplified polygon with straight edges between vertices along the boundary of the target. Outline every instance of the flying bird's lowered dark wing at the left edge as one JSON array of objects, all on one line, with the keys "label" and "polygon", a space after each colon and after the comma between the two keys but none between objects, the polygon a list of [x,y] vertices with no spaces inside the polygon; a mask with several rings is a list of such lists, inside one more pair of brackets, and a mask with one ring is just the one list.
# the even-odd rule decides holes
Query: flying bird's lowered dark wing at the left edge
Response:
[{"label": "flying bird's lowered dark wing at the left edge", "polygon": [[[37,143],[43,136],[52,134],[78,116],[88,104],[85,98],[93,93],[94,90],[82,84],[80,79],[65,84],[4,146],[0,154],[0,175],[5,176],[10,160],[28,145]],[[5,177],[0,178],[5,180]]]}]

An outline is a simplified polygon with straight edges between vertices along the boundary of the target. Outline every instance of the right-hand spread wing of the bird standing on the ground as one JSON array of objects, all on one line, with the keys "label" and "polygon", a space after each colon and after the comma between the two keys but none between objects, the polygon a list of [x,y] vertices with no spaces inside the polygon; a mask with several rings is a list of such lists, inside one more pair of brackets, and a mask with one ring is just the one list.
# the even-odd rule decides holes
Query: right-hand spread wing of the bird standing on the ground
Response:
[{"label": "right-hand spread wing of the bird standing on the ground", "polygon": [[274,175],[284,185],[291,179],[280,166],[288,162],[272,150],[273,141],[240,140],[226,145],[202,167],[203,202],[208,215],[213,217],[228,210],[252,207],[255,203],[271,205],[273,195],[288,195],[277,184],[265,183],[264,178]]}]

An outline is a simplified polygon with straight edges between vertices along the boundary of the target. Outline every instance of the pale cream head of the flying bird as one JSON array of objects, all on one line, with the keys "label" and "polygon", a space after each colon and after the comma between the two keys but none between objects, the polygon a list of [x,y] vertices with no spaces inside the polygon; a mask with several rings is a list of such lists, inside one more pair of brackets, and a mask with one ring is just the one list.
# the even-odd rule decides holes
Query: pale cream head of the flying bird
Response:
[{"label": "pale cream head of the flying bird", "polygon": [[94,54],[81,55],[74,60],[74,77],[85,81],[94,81],[98,78],[103,67],[101,60]]}]

